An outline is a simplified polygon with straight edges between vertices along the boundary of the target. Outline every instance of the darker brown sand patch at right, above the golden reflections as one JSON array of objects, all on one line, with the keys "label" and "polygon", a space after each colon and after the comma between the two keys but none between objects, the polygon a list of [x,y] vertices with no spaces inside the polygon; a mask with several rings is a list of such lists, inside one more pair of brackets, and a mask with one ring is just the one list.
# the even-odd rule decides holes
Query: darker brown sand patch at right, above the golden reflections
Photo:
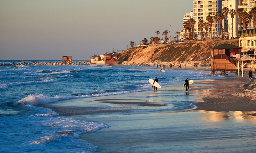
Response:
[{"label": "darker brown sand patch at right, above the golden reflections", "polygon": [[[232,80],[232,81],[230,81]],[[218,89],[223,90],[219,94],[209,94],[202,97],[204,102],[194,103],[194,110],[215,112],[226,111],[256,111],[256,80],[253,77],[249,81],[248,76],[216,79],[214,84],[222,84]]]}]

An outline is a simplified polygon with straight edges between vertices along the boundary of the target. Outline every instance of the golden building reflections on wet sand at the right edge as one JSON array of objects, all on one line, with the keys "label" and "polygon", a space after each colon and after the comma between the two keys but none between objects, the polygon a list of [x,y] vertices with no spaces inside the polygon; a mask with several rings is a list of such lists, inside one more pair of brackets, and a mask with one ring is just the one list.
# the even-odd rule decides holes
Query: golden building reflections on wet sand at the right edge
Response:
[{"label": "golden building reflections on wet sand at the right edge", "polygon": [[251,119],[253,124],[256,124],[256,117],[250,114],[255,114],[255,111],[232,111],[232,112],[214,112],[198,110],[199,113],[207,113],[208,116],[202,117],[202,120],[210,122],[218,122],[225,120],[245,120]]}]

